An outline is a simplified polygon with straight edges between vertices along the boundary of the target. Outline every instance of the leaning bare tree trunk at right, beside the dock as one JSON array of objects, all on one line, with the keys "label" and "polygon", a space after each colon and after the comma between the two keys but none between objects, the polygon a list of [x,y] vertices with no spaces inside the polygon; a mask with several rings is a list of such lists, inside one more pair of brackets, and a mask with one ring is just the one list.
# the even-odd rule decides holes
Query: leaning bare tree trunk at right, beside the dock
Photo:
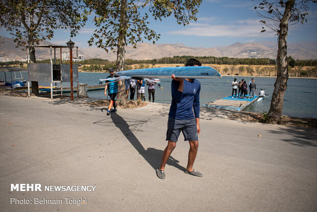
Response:
[{"label": "leaning bare tree trunk at right, beside the dock", "polygon": [[287,66],[287,31],[288,21],[291,15],[291,9],[293,8],[295,0],[290,0],[286,3],[283,18],[280,22],[278,54],[277,54],[277,78],[274,84],[274,92],[272,94],[272,100],[268,115],[271,118],[271,122],[277,123],[281,121],[283,110],[283,98],[287,88],[288,80],[288,66]]}]

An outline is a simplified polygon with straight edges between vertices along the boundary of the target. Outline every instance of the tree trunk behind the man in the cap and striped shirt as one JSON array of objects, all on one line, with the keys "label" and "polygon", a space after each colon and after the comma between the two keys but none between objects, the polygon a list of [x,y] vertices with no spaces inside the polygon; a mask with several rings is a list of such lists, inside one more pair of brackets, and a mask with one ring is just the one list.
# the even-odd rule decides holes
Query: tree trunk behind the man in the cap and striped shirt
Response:
[{"label": "tree trunk behind the man in the cap and striped shirt", "polygon": [[[121,1],[120,6],[120,29],[117,46],[117,71],[124,70],[125,62],[125,47],[126,47],[126,33],[127,33],[127,0]],[[127,99],[125,95],[125,83],[118,85],[118,99],[121,99],[121,105],[126,107]]]}]

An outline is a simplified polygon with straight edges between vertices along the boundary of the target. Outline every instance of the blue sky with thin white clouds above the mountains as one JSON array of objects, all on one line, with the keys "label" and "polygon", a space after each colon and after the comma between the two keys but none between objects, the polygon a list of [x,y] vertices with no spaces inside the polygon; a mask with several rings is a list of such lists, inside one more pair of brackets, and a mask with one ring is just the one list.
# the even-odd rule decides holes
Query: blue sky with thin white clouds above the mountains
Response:
[{"label": "blue sky with thin white clouds above the mountains", "polygon": [[[150,20],[150,28],[161,34],[156,44],[182,43],[189,47],[216,47],[231,45],[236,42],[252,43],[262,40],[277,41],[275,33],[264,32],[264,26],[259,23],[254,6],[258,0],[203,0],[197,14],[197,22],[188,26],[177,25],[173,17],[160,21]],[[72,38],[76,46],[88,47],[87,40],[93,34],[95,26],[92,17],[79,35]],[[0,29],[0,35],[10,35]],[[64,45],[70,39],[70,33],[65,30],[55,31],[51,42]],[[317,5],[310,6],[307,23],[290,26],[288,42],[317,41]],[[149,42],[144,40],[144,42]],[[149,42],[150,43],[150,42]]]}]

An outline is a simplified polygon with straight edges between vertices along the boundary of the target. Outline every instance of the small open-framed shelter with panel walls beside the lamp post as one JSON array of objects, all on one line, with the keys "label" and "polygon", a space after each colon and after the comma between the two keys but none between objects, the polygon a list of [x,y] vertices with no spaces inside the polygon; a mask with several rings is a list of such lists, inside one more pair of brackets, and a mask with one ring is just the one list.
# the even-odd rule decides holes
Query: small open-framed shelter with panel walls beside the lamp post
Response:
[{"label": "small open-framed shelter with panel walls beside the lamp post", "polygon": [[[51,99],[55,95],[63,96],[63,82],[71,81],[71,67],[69,64],[62,64],[62,48],[67,46],[59,45],[37,45],[27,46],[34,48],[50,48],[51,63],[30,63],[30,52],[28,49],[28,96],[30,96],[30,81],[50,82]],[[60,49],[60,64],[56,64],[56,49]],[[54,57],[53,57],[54,51]],[[76,47],[76,65],[73,65],[73,80],[78,83],[78,47]],[[54,94],[55,93],[55,94]],[[59,94],[60,93],[60,94]]]}]

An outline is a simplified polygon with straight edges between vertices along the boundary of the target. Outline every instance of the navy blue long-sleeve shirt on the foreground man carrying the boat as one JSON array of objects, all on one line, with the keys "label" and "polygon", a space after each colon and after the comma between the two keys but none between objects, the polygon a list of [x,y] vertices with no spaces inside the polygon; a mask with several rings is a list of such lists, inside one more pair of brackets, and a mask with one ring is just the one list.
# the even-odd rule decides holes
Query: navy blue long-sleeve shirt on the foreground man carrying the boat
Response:
[{"label": "navy blue long-sleeve shirt on the foreground man carrying the boat", "polygon": [[192,81],[183,80],[183,92],[178,91],[179,81],[172,80],[172,103],[168,117],[175,119],[199,118],[200,82],[195,79]]}]

